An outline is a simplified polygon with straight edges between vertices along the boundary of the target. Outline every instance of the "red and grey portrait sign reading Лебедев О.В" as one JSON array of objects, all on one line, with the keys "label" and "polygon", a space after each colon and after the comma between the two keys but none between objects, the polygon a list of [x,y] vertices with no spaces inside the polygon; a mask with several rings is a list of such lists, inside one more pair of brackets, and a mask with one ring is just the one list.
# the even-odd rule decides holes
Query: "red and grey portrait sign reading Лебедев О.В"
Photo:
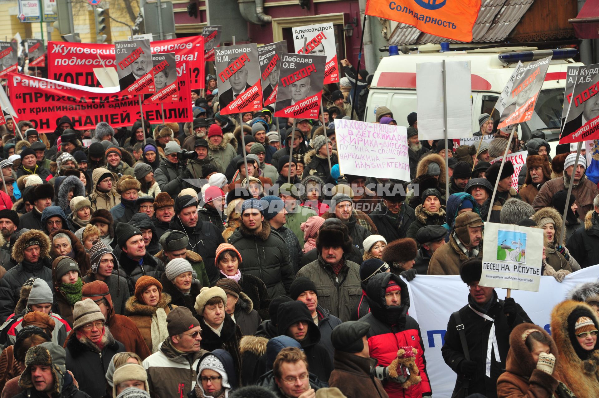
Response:
[{"label": "red and grey portrait sign reading \u041b\u0435\u0431\u0435\u0434\u0435\u0432 \u041e.\u0412", "polygon": [[326,57],[283,53],[274,116],[318,119]]}]

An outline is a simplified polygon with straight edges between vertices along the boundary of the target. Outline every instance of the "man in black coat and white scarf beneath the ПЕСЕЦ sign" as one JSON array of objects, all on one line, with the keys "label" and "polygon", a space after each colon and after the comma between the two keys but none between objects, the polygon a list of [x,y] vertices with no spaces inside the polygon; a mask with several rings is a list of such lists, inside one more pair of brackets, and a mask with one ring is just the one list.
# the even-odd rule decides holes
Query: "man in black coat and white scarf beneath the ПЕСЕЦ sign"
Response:
[{"label": "man in black coat and white scarf beneath the \u041f\u0415\u0421\u0415\u0426 sign", "polygon": [[[514,299],[500,300],[494,288],[480,286],[481,274],[480,259],[467,260],[459,271],[470,290],[468,305],[457,311],[457,319],[455,314],[449,317],[441,348],[445,363],[458,373],[452,396],[467,388],[463,396],[479,393],[497,397],[497,378],[506,369],[510,333],[521,323],[532,323]],[[462,340],[460,333],[464,333]]]}]

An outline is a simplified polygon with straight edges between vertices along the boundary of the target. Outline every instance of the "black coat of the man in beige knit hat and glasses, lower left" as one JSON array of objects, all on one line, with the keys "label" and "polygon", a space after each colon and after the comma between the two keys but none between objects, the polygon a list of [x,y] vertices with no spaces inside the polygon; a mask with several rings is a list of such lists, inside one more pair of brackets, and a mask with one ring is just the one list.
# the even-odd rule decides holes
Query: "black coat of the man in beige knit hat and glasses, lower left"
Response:
[{"label": "black coat of the man in beige knit hat and glasses, lower left", "polygon": [[66,341],[66,369],[71,370],[81,391],[92,398],[105,396],[108,366],[115,354],[125,352],[125,346],[116,341],[107,328],[104,336],[107,338],[107,344],[102,348],[101,353],[90,348],[92,342],[87,344],[80,342],[75,330],[72,330],[71,336]]}]

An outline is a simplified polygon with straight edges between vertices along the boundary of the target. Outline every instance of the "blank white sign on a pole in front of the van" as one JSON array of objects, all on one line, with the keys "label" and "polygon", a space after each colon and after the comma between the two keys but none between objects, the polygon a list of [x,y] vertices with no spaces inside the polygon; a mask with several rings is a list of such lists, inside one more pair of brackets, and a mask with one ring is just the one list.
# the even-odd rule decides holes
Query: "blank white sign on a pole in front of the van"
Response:
[{"label": "blank white sign on a pole in front of the van", "polygon": [[443,95],[443,63],[416,63],[416,110],[418,138],[445,138],[445,107],[447,98],[447,138],[472,137],[472,92],[470,61],[445,63],[446,89]]}]

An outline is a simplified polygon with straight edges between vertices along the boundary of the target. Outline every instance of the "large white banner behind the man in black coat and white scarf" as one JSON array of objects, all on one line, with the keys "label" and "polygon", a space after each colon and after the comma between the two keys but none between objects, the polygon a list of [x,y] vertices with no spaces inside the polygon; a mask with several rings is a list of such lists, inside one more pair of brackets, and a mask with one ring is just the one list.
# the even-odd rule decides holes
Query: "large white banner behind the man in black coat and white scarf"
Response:
[{"label": "large white banner behind the man in black coat and white scarf", "polygon": [[[512,290],[512,297],[524,308],[533,323],[549,332],[553,307],[562,302],[575,285],[594,281],[598,274],[599,266],[595,265],[568,275],[561,283],[553,277],[541,277],[538,293]],[[409,314],[420,325],[432,394],[435,397],[450,397],[456,373],[443,361],[441,347],[450,315],[468,304],[468,288],[457,275],[418,275],[412,282],[407,282],[407,285],[410,291]],[[495,291],[500,299],[505,299],[505,289],[497,288]]]}]

